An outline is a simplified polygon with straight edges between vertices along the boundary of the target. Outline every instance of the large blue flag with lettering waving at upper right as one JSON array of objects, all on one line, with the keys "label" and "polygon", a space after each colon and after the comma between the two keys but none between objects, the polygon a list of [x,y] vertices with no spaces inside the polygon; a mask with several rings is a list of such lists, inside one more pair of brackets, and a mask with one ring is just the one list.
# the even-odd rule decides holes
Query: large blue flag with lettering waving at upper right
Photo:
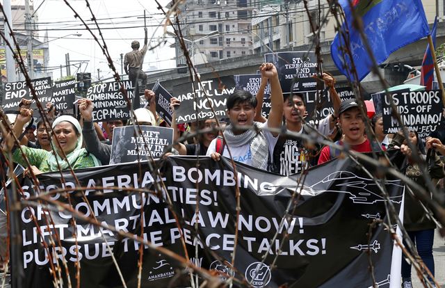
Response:
[{"label": "large blue flag with lettering waving at upper right", "polygon": [[[340,72],[350,81],[356,80],[351,63],[355,64],[358,81],[364,79],[372,67],[362,38],[353,27],[350,2],[357,15],[362,17],[364,33],[378,64],[397,49],[430,33],[421,0],[339,0],[345,13],[341,31],[349,33],[337,33],[331,45],[331,55]],[[346,49],[350,54],[346,54]]]}]

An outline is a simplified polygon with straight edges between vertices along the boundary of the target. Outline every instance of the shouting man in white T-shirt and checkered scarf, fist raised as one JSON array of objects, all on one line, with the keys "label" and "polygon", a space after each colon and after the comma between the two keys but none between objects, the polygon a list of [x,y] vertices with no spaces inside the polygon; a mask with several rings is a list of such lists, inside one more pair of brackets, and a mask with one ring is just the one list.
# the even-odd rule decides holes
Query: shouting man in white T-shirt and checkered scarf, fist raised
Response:
[{"label": "shouting man in white T-shirt and checkered scarf, fist raised", "polygon": [[[236,90],[227,98],[227,115],[230,124],[224,131],[223,141],[211,141],[207,155],[220,160],[220,155],[267,170],[272,161],[273,149],[277,143],[278,132],[269,131],[281,126],[283,115],[283,94],[277,69],[272,63],[259,67],[261,76],[270,83],[270,113],[265,123],[254,122],[257,113],[257,99],[245,90]],[[226,142],[227,141],[227,142]],[[230,150],[230,152],[229,152]]]}]

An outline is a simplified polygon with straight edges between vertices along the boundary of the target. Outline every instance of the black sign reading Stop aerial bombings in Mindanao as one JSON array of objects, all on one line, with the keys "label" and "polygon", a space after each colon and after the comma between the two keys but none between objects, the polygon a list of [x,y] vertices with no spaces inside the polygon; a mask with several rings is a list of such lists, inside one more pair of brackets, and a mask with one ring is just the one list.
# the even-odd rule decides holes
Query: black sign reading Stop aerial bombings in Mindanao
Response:
[{"label": "black sign reading Stop aerial bombings in Mindanao", "polygon": [[[139,99],[138,97],[135,98],[131,81],[127,80],[121,82],[125,90],[127,90],[127,95],[131,101],[133,109],[138,109]],[[95,122],[128,120],[130,118],[127,101],[120,90],[120,84],[118,82],[105,82],[91,86],[88,88],[86,97],[95,104],[95,108],[92,111],[92,119]]]}]

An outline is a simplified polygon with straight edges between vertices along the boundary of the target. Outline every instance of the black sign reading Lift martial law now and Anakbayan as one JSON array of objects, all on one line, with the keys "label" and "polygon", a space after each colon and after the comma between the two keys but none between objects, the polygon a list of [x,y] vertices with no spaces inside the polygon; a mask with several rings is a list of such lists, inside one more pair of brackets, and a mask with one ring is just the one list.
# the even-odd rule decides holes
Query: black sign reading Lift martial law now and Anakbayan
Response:
[{"label": "black sign reading Lift martial law now and Anakbayan", "polygon": [[[173,95],[181,101],[176,109],[177,123],[211,118],[226,118],[227,96],[235,90],[234,77],[220,77],[173,86]],[[215,111],[213,113],[212,111]]]}]

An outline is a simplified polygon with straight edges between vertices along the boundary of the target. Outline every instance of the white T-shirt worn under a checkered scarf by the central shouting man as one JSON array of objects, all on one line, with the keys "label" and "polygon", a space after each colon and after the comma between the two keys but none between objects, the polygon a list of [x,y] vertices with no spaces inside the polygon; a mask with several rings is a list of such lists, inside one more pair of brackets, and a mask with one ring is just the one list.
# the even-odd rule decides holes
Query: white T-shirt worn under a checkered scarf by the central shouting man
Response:
[{"label": "white T-shirt worn under a checkered scarf by the central shouting man", "polygon": [[[270,131],[267,130],[268,126],[267,126],[267,122],[266,123],[259,123],[257,122],[257,127],[259,127],[261,130],[260,133],[264,134],[264,137],[266,138],[266,141],[268,142],[268,146],[269,146],[269,155],[270,155],[270,159],[272,159],[272,154],[273,154],[273,148],[275,147],[275,144],[277,143],[278,140],[278,136],[274,137]],[[213,139],[209,145],[209,148],[207,149],[207,156],[210,156],[210,154],[212,154],[213,152],[216,152],[216,141],[218,138]],[[226,143],[227,146],[229,146]],[[252,166],[252,152],[250,151],[250,143],[247,143],[243,146],[238,146],[238,147],[230,147],[230,152],[232,153],[232,159],[234,159],[234,161],[238,161],[241,163],[245,163],[247,165]],[[229,155],[229,150],[227,149],[227,147],[225,147],[225,149],[223,150],[223,156],[230,158]]]}]

